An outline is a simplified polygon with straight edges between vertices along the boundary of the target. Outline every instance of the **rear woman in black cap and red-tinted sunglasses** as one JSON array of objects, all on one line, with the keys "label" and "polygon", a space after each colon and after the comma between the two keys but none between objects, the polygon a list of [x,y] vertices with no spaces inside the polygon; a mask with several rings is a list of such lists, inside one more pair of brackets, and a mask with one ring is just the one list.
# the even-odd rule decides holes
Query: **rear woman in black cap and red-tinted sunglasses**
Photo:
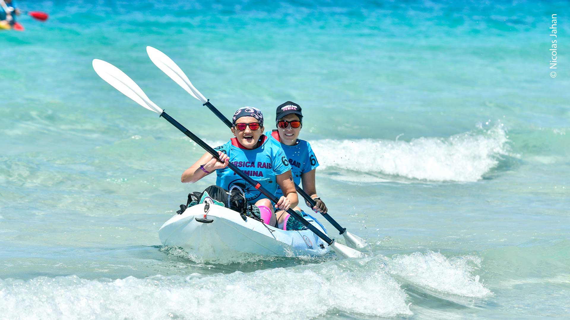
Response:
[{"label": "rear woman in black cap and red-tinted sunglasses", "polygon": [[[303,190],[316,202],[313,210],[323,214],[326,213],[327,206],[317,195],[315,186],[315,171],[316,167],[319,166],[319,162],[311,149],[310,143],[298,139],[301,128],[303,128],[301,106],[291,101],[278,106],[275,121],[277,122],[277,129],[266,133],[266,135],[281,142],[281,146],[287,155],[287,160],[291,165],[295,184],[299,186],[303,182]],[[278,188],[275,195],[282,195],[282,191]],[[308,202],[306,204],[310,207]],[[300,207],[294,207],[293,210],[298,211],[299,214],[304,214]],[[284,230],[299,230],[303,227],[299,221],[290,217],[287,212],[278,212],[277,219],[279,228]]]}]

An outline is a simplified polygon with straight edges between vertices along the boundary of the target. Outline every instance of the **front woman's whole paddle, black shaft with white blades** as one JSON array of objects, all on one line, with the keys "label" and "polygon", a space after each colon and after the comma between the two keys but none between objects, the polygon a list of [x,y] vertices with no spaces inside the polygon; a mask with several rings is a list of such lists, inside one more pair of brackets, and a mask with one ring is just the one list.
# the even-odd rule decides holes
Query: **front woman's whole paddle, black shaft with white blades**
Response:
[{"label": "front woman's whole paddle, black shaft with white blades", "polygon": [[[145,95],[143,90],[133,81],[129,76],[125,75],[123,71],[120,71],[119,68],[115,67],[114,65],[107,63],[103,60],[95,59],[93,60],[93,69],[97,72],[97,75],[101,77],[101,79],[107,81],[110,85],[115,87],[115,89],[119,90],[125,96],[131,98],[133,101],[137,102],[146,109],[149,109],[153,112],[160,114],[160,117],[165,118],[166,121],[170,122],[173,126],[175,126],[178,130],[182,133],[186,134],[190,139],[196,142],[197,145],[201,146],[204,150],[208,153],[213,155],[214,157],[218,158],[218,153],[212,149],[209,145],[203,142],[200,138],[198,138],[195,134],[190,132],[190,130],[184,128],[178,121],[174,120],[174,118],[170,117],[164,110],[159,108],[154,102],[150,101],[148,97]],[[219,159],[219,158],[218,158]],[[279,199],[275,197],[275,195],[268,192],[265,188],[260,186],[259,183],[255,182],[251,179],[248,175],[243,173],[237,166],[233,163],[229,163],[228,167],[233,170],[239,177],[246,180],[247,183],[255,186],[262,194],[267,196],[272,202],[277,203]],[[305,220],[302,216],[300,216],[297,212],[293,211],[292,209],[287,210],[287,213],[294,216],[295,219],[299,220],[305,227],[310,229],[314,232],[317,236],[319,236],[323,241],[325,241],[332,249],[336,252],[339,257],[343,258],[358,258],[365,256],[364,253],[360,251],[356,251],[355,249],[349,248],[343,244],[335,243],[335,240],[329,238],[319,229],[315,228],[314,225],[310,224],[307,220]]]}]

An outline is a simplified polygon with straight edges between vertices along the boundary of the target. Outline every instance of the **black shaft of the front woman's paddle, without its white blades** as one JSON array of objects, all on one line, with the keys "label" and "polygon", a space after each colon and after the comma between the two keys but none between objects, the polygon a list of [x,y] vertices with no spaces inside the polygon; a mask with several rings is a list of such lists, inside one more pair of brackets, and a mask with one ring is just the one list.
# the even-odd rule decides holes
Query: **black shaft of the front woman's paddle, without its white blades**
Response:
[{"label": "black shaft of the front woman's paddle, without its white blades", "polygon": [[[213,155],[214,158],[218,158],[218,161],[221,162],[221,160],[219,159],[219,154],[217,153],[217,151],[215,151],[212,147],[210,147],[209,145],[207,145],[206,142],[203,142],[200,138],[198,138],[196,136],[196,134],[193,134],[192,132],[190,132],[190,130],[184,128],[183,125],[181,125],[178,121],[174,120],[173,117],[170,117],[168,115],[168,113],[162,111],[162,113],[160,114],[160,117],[165,118],[166,121],[170,122],[170,124],[172,124],[173,126],[175,126],[178,130],[180,130],[182,133],[186,134],[187,137],[189,137],[190,139],[192,139],[194,142],[197,143],[197,145],[201,146],[204,150],[207,151],[207,153]],[[249,175],[243,173],[243,171],[241,169],[239,169],[238,167],[236,167],[233,163],[229,162],[228,163],[228,167],[233,170],[235,173],[237,173],[239,175],[239,177],[242,177],[244,180],[246,180],[247,183],[251,184],[252,186],[254,186],[257,190],[259,190],[259,192],[261,192],[262,194],[264,194],[267,198],[269,198],[269,200],[271,200],[274,203],[278,203],[279,199],[277,199],[277,197],[275,195],[272,195],[271,192],[267,191],[266,188],[262,187],[257,181],[255,181],[254,179],[251,179],[249,177]],[[314,225],[312,225],[311,223],[309,223],[309,221],[305,220],[301,215],[299,215],[297,212],[295,212],[293,209],[289,208],[289,210],[287,210],[287,213],[292,215],[295,219],[299,220],[300,223],[302,223],[305,227],[307,227],[309,230],[311,230],[312,232],[315,233],[315,235],[319,236],[320,239],[323,239],[323,241],[325,241],[328,245],[331,245],[333,243],[334,240],[332,240],[331,238],[329,238],[327,235],[325,235],[323,232],[321,232],[319,229],[317,229]]]}]

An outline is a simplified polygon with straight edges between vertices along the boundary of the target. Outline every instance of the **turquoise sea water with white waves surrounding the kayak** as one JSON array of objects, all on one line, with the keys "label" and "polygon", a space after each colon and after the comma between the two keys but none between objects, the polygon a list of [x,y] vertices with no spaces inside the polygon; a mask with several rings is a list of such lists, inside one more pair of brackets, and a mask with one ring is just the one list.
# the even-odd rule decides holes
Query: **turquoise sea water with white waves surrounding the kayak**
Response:
[{"label": "turquoise sea water with white waves surrounding the kayak", "polygon": [[[0,32],[0,318],[570,313],[567,45],[548,68],[568,2],[19,5],[50,19]],[[214,180],[181,184],[203,151],[92,59],[212,145],[230,134],[145,46],[226,116],[302,105],[319,195],[373,255],[210,263],[162,247],[158,228]]]}]

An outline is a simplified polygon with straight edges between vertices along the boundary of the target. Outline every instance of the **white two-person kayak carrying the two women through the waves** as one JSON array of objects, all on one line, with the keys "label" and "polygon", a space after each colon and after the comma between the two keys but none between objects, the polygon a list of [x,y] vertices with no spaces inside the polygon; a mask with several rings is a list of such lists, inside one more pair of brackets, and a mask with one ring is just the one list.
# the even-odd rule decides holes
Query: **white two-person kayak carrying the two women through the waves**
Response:
[{"label": "white two-person kayak carrying the two women through the waves", "polygon": [[[202,221],[213,221],[197,221],[204,218]],[[312,216],[306,219],[327,233]],[[320,256],[329,251],[327,243],[310,230],[284,231],[253,218],[243,220],[239,212],[207,202],[174,215],[160,227],[158,237],[162,244],[182,247],[206,261],[243,253],[295,257]]]}]

